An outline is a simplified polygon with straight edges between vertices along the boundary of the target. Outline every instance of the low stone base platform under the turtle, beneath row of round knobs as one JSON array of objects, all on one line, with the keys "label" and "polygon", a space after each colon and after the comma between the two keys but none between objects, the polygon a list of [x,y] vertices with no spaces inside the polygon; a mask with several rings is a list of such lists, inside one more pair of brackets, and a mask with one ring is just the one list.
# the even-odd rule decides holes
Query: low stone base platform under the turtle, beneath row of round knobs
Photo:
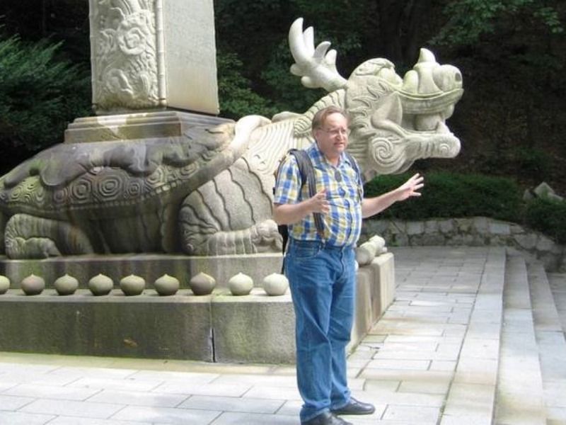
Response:
[{"label": "low stone base platform under the turtle, beneath row of round knobs", "polygon": [[[258,264],[265,266],[270,256],[265,257]],[[277,263],[276,256],[272,257]],[[185,261],[192,264],[191,261],[197,260],[185,257]],[[265,277],[273,273],[273,269],[267,273],[259,266],[251,270],[249,256],[241,261],[247,265],[243,270],[250,275],[265,273],[262,276]],[[30,268],[37,266],[33,261],[27,262]],[[229,264],[228,261],[223,266],[229,268]],[[3,266],[14,265],[4,261]],[[120,269],[117,265],[113,267]],[[144,267],[150,276],[162,274],[154,269],[155,264]],[[223,276],[232,276],[233,271],[227,273],[224,267],[216,267]],[[279,271],[279,263],[275,271]],[[368,266],[359,268],[350,349],[359,344],[393,301],[393,271],[393,254],[378,256]],[[176,295],[160,297],[149,284],[154,276],[144,276],[135,267],[132,272],[148,282],[143,294],[132,297],[126,297],[117,288],[110,295],[95,297],[86,290],[85,280],[78,276],[81,288],[74,295],[57,295],[48,285],[42,294],[27,296],[13,287],[0,295],[0,351],[294,363],[294,312],[289,291],[286,295],[270,297],[259,287],[262,278],[256,278],[257,287],[250,295],[236,297],[226,289],[227,280],[215,276],[219,285],[211,295],[197,296],[183,288]]]}]

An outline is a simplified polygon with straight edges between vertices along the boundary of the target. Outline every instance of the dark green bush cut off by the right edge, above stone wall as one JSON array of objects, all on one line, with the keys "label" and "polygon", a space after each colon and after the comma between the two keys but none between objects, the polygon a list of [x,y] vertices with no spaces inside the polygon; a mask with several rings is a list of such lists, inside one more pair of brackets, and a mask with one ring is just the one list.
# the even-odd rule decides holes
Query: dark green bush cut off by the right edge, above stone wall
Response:
[{"label": "dark green bush cut off by the right edge, above stone wall", "polygon": [[537,198],[526,205],[525,224],[560,244],[566,243],[566,201]]}]

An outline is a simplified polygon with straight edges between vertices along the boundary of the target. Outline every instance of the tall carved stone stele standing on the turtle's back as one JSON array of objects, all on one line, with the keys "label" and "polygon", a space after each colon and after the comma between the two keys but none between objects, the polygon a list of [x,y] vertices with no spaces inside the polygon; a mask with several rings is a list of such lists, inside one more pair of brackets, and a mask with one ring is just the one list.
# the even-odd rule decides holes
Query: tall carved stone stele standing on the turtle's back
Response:
[{"label": "tall carved stone stele standing on the turtle's back", "polygon": [[96,113],[219,112],[212,0],[89,0],[89,6]]}]

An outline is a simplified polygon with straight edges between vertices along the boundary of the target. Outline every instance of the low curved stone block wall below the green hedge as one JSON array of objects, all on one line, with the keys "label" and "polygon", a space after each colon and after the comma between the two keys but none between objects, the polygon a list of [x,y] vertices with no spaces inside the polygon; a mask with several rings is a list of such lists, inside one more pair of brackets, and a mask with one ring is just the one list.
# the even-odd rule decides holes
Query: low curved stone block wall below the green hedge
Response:
[{"label": "low curved stone block wall below the green hedge", "polygon": [[566,271],[565,246],[540,232],[489,217],[366,220],[360,242],[374,234],[388,246],[510,246],[543,261],[547,271]]}]

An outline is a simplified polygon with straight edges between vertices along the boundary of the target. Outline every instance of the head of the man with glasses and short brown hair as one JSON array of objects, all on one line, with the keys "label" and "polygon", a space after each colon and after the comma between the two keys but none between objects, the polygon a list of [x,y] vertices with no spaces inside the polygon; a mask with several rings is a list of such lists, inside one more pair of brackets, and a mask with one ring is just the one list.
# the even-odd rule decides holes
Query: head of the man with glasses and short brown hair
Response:
[{"label": "head of the man with glasses and short brown hair", "polygon": [[341,113],[331,113],[321,128],[314,131],[318,149],[333,164],[348,146],[348,122]]}]

